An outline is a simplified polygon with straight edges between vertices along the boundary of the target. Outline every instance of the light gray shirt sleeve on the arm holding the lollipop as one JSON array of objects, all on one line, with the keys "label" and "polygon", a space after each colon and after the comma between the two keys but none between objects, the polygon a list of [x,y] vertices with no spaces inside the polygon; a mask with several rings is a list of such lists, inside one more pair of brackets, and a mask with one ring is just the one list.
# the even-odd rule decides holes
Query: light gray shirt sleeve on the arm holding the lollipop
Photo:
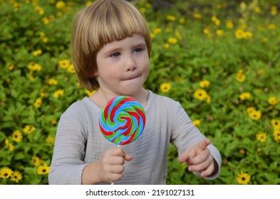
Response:
[{"label": "light gray shirt sleeve on the arm holding the lollipop", "polygon": [[83,115],[72,105],[61,115],[53,148],[49,184],[81,184],[85,157]]}]

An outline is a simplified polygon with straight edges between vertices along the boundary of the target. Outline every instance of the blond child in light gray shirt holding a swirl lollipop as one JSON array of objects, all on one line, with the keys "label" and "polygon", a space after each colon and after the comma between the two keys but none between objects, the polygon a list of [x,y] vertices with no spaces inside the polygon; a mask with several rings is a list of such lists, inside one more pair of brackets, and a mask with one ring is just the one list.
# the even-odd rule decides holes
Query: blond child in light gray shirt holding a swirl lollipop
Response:
[{"label": "blond child in light gray shirt holding a swirl lollipop", "polygon": [[[61,115],[50,184],[165,184],[170,142],[189,171],[219,175],[221,157],[192,124],[179,102],[142,86],[149,72],[150,33],[145,18],[123,0],[98,0],[73,21],[72,56],[81,85],[96,92]],[[98,125],[100,110],[120,95],[145,108],[142,135],[116,147]]]}]

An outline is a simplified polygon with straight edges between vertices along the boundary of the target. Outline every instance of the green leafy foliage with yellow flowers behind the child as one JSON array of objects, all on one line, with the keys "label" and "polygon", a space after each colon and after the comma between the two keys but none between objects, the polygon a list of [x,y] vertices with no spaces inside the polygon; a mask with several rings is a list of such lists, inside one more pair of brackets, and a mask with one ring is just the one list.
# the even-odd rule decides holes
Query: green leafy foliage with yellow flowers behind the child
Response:
[{"label": "green leafy foliage with yellow flowers behind the child", "polygon": [[[180,101],[222,155],[220,176],[209,181],[170,146],[169,184],[280,183],[279,4],[238,2],[172,1],[155,11],[153,1],[135,1],[152,33],[145,87]],[[0,1],[1,184],[48,183],[59,117],[89,95],[70,55],[71,21],[82,6]],[[250,177],[243,182],[242,172]]]}]

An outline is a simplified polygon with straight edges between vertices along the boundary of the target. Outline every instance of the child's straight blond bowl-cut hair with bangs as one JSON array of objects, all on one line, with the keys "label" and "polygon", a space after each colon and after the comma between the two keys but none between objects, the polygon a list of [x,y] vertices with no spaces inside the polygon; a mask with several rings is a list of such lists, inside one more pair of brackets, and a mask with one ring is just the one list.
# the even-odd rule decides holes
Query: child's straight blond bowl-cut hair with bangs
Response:
[{"label": "child's straight blond bowl-cut hair with bangs", "polygon": [[124,0],[98,0],[81,10],[73,20],[72,59],[80,85],[89,90],[99,87],[95,77],[96,55],[103,45],[133,34],[144,36],[148,54],[152,43],[145,17]]}]

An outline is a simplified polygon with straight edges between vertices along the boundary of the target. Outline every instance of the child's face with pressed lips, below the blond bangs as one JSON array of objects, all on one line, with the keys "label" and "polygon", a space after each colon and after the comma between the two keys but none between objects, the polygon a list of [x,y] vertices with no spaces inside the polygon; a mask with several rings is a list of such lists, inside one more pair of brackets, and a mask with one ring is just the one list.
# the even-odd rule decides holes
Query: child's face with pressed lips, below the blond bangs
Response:
[{"label": "child's face with pressed lips, below the blond bangs", "polygon": [[100,89],[116,95],[139,93],[150,68],[145,38],[138,34],[105,44],[96,61]]}]

